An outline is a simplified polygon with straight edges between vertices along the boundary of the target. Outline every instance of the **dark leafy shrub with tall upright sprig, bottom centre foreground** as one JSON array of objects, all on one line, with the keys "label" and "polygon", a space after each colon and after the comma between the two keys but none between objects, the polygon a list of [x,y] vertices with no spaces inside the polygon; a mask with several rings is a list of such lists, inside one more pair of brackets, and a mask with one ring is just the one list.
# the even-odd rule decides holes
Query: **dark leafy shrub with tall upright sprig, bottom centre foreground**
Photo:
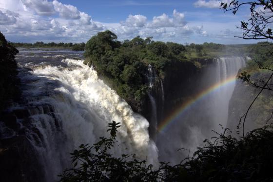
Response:
[{"label": "dark leafy shrub with tall upright sprig, bottom centre foreground", "polygon": [[138,161],[136,155],[122,154],[113,157],[110,149],[114,146],[119,122],[108,124],[110,137],[101,137],[93,146],[81,144],[72,155],[73,169],[67,169],[60,175],[60,182],[128,182],[154,181],[152,165],[146,167],[145,161]]}]

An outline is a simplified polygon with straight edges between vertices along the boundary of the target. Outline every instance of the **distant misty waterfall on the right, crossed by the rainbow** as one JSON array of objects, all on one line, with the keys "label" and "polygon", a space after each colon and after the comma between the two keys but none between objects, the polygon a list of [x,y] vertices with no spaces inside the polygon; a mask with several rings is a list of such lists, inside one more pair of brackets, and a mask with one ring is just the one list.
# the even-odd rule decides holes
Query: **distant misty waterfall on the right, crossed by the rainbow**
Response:
[{"label": "distant misty waterfall on the right, crossed by the rainbow", "polygon": [[[156,143],[160,161],[176,164],[177,160],[193,155],[196,146],[202,145],[204,139],[215,136],[212,130],[223,131],[219,124],[223,128],[227,125],[229,101],[235,86],[231,78],[237,75],[245,63],[242,57],[217,58],[204,68],[194,83],[198,97],[191,98],[190,94],[195,90],[188,90],[190,100],[193,101],[191,105],[179,107],[179,115],[172,116],[168,127],[157,135],[157,141],[160,141]],[[187,95],[182,97],[187,101]],[[179,148],[190,149],[190,152],[177,151]]]}]

